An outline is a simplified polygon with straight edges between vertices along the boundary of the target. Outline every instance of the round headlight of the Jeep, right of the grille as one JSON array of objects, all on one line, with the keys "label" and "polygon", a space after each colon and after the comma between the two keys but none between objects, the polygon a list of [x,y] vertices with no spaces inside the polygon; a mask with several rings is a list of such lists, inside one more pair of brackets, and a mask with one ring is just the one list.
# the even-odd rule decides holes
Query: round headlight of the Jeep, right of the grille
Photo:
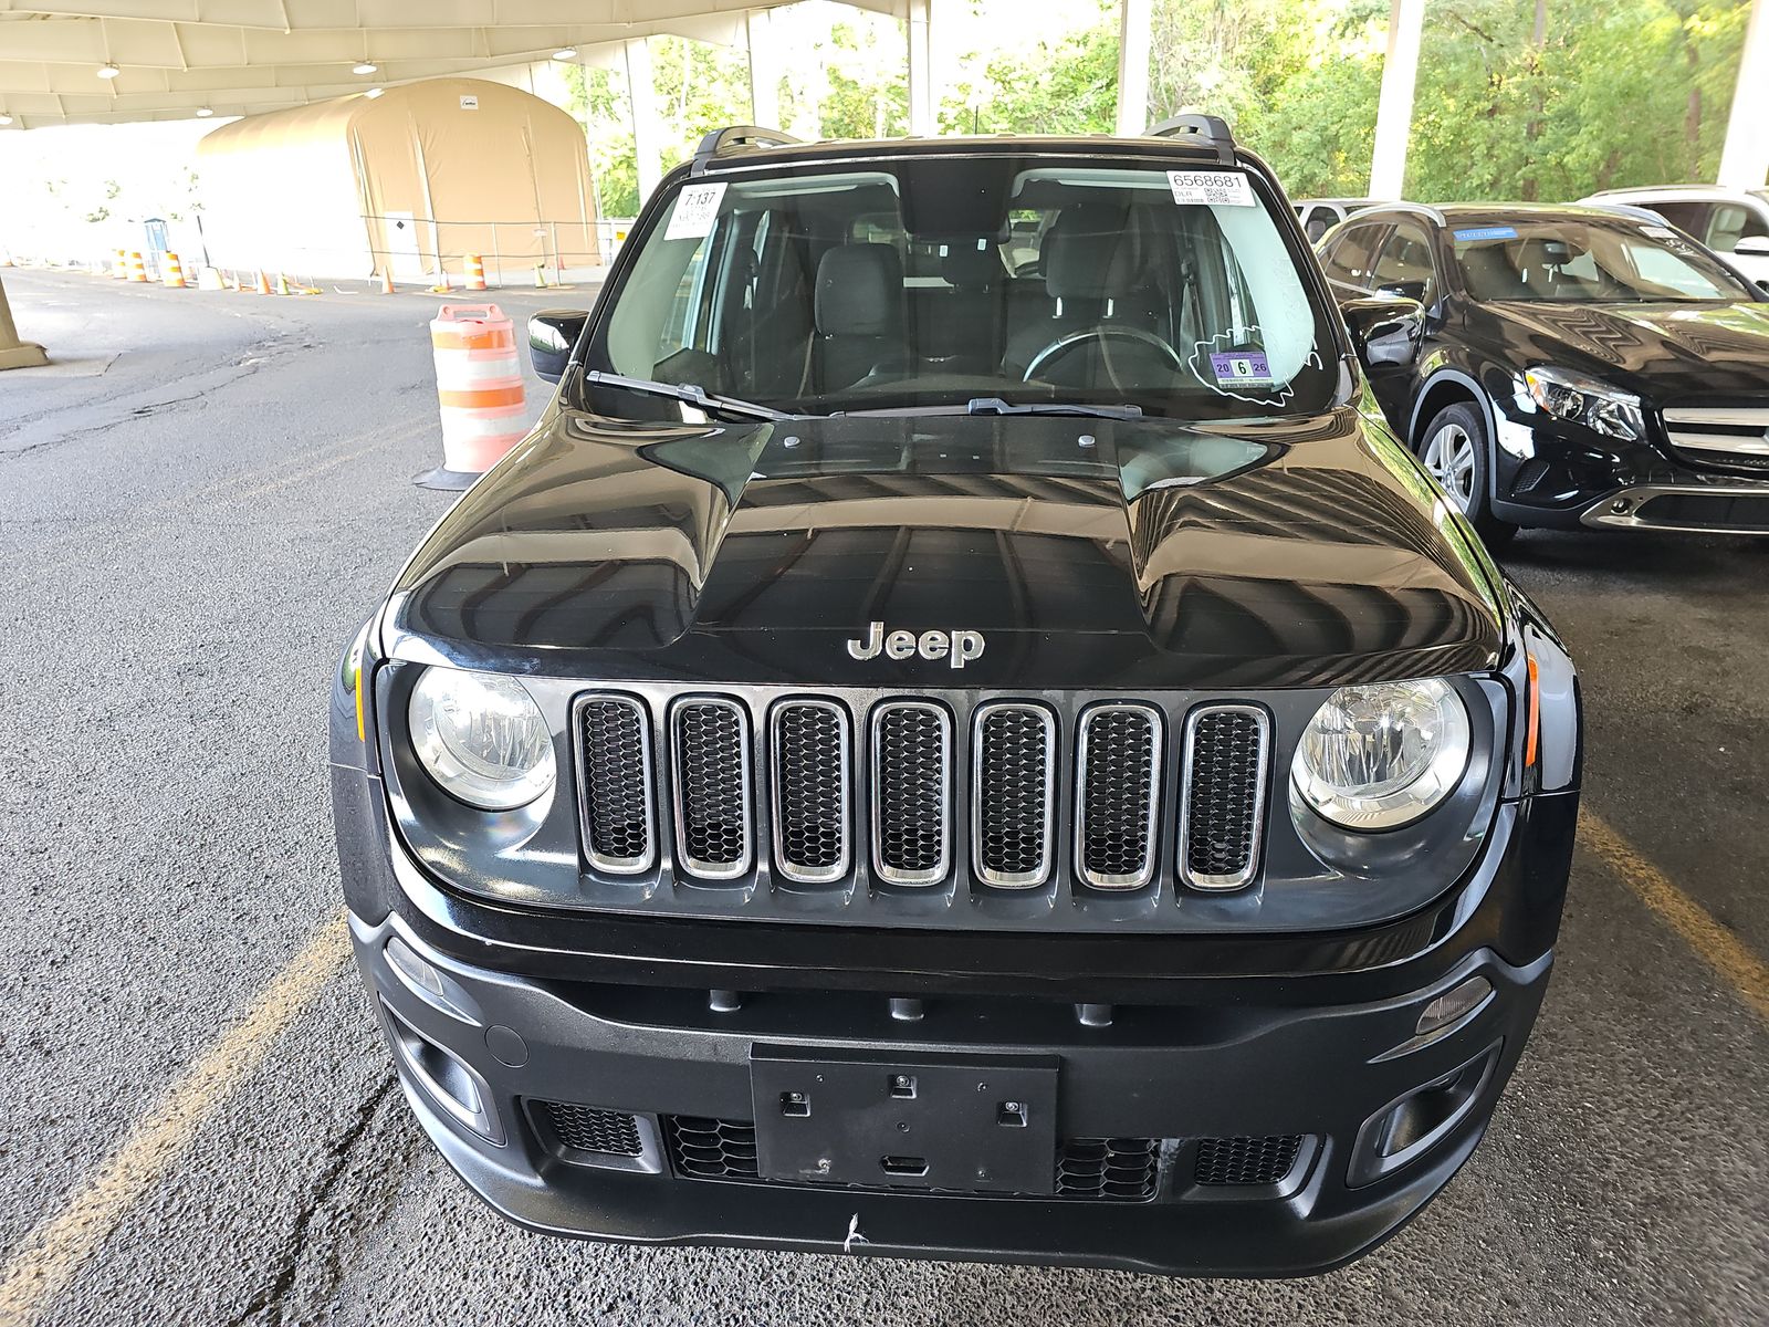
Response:
[{"label": "round headlight of the Jeep, right of the grille", "polygon": [[1468,768],[1468,710],[1436,678],[1341,687],[1314,711],[1291,782],[1343,830],[1394,830],[1435,805]]}]

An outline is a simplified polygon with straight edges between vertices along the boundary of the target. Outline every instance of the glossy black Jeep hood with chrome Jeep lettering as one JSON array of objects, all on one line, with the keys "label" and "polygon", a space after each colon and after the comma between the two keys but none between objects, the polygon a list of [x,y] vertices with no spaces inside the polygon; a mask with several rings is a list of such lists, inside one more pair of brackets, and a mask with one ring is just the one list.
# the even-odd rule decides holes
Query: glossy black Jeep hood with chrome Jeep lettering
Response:
[{"label": "glossy black Jeep hood with chrome Jeep lettering", "polygon": [[[1489,667],[1495,591],[1350,409],[1185,426],[550,407],[412,557],[382,644],[587,679],[1298,687]],[[854,658],[870,623],[984,651]]]}]

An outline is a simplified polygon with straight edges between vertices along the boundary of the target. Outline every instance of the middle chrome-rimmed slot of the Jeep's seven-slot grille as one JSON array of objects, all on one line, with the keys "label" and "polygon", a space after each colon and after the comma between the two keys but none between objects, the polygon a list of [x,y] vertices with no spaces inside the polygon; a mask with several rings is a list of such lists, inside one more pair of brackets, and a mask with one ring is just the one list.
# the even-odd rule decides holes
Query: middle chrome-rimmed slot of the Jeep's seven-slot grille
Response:
[{"label": "middle chrome-rimmed slot of the Jeep's seven-slot grille", "polygon": [[879,879],[934,885],[952,863],[952,717],[927,701],[872,713],[872,856]]}]

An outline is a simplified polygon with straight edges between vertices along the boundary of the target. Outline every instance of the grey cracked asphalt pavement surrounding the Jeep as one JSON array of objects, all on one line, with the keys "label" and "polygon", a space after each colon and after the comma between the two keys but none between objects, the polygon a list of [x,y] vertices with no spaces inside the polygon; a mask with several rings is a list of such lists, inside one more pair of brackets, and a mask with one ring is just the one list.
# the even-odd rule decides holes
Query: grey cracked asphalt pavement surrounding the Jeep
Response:
[{"label": "grey cracked asphalt pavement surrounding the Jeep", "polygon": [[[327,672],[448,497],[409,481],[435,299],[4,280],[58,359],[0,373],[9,1267],[334,922]],[[1581,665],[1589,807],[1769,955],[1769,541],[1527,534],[1507,564]],[[1769,1030],[1589,849],[1486,1143],[1309,1281],[529,1235],[419,1136],[354,971],[322,977],[41,1322],[1769,1322]]]}]

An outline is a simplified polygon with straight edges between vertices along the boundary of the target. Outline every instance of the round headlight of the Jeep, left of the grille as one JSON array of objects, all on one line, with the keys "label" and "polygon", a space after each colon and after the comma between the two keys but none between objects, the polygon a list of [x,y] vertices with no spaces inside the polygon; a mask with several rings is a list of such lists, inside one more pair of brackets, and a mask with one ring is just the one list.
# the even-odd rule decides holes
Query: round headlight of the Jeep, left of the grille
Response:
[{"label": "round headlight of the Jeep, left of the grille", "polygon": [[515,810],[554,784],[552,733],[515,678],[426,669],[410,729],[425,770],[469,807]]}]

